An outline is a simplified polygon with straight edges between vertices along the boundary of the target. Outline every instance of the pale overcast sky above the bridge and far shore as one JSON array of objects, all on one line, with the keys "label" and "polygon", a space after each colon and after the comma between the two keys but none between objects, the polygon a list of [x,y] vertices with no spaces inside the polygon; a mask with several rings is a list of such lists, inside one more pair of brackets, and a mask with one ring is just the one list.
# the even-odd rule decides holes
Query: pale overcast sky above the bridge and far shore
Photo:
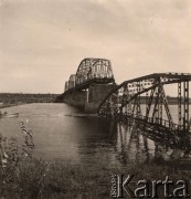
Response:
[{"label": "pale overcast sky above the bridge and far shore", "polygon": [[0,92],[62,93],[84,57],[117,83],[191,72],[191,1],[0,0]]}]

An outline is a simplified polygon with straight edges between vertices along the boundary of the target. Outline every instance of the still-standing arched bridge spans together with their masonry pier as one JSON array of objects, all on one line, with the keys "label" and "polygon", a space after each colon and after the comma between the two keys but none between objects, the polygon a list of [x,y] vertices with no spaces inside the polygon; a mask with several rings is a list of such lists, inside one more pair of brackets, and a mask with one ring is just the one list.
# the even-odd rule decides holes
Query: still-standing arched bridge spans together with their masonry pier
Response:
[{"label": "still-standing arched bridge spans together with their masonry pier", "polygon": [[112,63],[106,59],[84,59],[75,74],[65,82],[65,91],[56,102],[97,113],[106,94],[116,87]]}]

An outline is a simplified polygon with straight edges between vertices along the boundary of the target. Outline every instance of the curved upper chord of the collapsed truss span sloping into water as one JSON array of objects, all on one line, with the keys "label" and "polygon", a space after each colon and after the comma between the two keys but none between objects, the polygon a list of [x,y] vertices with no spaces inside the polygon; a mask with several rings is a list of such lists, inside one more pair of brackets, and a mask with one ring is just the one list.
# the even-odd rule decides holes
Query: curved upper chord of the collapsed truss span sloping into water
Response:
[{"label": "curved upper chord of the collapsed truss span sloping into water", "polygon": [[[100,114],[102,109],[106,107],[105,103],[107,103],[110,97],[113,97],[113,95],[117,95],[117,97],[124,98],[126,96],[124,95],[125,90],[128,90],[128,95],[130,98],[126,101],[126,103],[117,103],[119,107],[118,109],[116,109],[117,112],[121,109],[125,105],[129,104],[132,100],[135,100],[135,97],[139,96],[142,93],[151,91],[159,84],[165,85],[189,81],[191,81],[191,74],[185,73],[155,73],[142,77],[125,81],[108,93],[108,95],[99,105],[98,114]],[[140,87],[138,87],[138,85],[140,85]]]}]

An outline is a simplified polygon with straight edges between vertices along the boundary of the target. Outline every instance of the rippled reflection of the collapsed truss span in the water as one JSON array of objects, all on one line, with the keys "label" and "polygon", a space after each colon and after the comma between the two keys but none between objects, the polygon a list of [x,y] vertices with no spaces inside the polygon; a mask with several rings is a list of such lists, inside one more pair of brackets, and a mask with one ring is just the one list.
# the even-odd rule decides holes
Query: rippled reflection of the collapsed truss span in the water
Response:
[{"label": "rippled reflection of the collapsed truss span in the water", "polygon": [[115,151],[123,164],[150,163],[151,160],[170,160],[183,157],[183,151],[171,149],[159,142],[151,140],[136,126],[116,125]]}]

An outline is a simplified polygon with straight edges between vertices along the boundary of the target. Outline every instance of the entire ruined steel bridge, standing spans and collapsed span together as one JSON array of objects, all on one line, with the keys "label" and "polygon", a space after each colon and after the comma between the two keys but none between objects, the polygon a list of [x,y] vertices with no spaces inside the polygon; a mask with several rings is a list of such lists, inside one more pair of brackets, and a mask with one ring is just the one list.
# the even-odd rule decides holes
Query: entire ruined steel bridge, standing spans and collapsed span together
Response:
[{"label": "entire ruined steel bridge, standing spans and collapsed span together", "polygon": [[[134,126],[151,139],[190,154],[189,73],[155,73],[115,83],[109,60],[84,59],[56,102]],[[166,87],[177,86],[173,108]]]}]

